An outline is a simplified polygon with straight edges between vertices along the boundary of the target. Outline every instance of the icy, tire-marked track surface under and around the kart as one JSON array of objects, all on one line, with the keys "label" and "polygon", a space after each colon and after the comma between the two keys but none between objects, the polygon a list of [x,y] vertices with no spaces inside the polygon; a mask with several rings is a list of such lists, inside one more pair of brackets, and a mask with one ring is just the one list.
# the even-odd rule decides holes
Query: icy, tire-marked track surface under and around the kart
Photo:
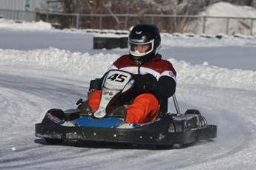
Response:
[{"label": "icy, tire-marked track surface under and around the kart", "polygon": [[[28,74],[30,72],[30,74]],[[50,146],[34,137],[34,124],[47,109],[75,107],[89,80],[63,72],[0,72],[0,169],[248,169],[255,167],[255,92],[180,84],[180,109],[200,109],[218,126],[217,138],[190,146],[65,142]],[[204,89],[202,91],[202,89]],[[240,99],[243,99],[242,101]],[[170,101],[171,102],[171,101]],[[4,129],[4,130],[3,130]],[[16,151],[11,148],[15,147]]]}]

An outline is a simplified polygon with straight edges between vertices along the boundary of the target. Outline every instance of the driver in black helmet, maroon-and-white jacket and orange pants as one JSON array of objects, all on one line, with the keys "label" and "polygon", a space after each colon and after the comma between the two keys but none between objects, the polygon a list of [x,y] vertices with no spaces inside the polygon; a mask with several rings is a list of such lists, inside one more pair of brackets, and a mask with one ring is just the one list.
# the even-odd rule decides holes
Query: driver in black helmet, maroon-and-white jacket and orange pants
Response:
[{"label": "driver in black helmet, maroon-and-white jacket and orange pants", "polygon": [[[161,46],[160,32],[154,24],[138,24],[128,36],[129,55],[122,55],[111,67],[130,72],[134,88],[122,96],[127,123],[148,123],[157,117],[159,101],[170,98],[176,89],[176,71],[158,52]],[[101,91],[95,90],[88,98],[92,112],[99,107]]]}]

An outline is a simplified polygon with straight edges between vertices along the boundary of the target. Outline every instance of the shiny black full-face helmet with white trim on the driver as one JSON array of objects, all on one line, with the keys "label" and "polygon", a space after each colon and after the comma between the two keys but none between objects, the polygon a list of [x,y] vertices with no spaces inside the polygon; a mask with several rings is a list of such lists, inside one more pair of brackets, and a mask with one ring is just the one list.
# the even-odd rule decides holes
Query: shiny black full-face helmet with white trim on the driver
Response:
[{"label": "shiny black full-face helmet with white trim on the driver", "polygon": [[[148,47],[145,52],[139,52],[137,47]],[[135,47],[135,48],[134,48]],[[148,62],[157,55],[161,47],[159,30],[154,24],[138,24],[128,38],[128,50],[134,60]]]}]

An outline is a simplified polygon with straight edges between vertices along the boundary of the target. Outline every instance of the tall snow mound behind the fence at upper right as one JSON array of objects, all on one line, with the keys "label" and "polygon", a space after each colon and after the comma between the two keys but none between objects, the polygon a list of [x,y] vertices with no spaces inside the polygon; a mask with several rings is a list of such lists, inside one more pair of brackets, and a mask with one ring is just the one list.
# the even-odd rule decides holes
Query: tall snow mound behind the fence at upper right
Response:
[{"label": "tall snow mound behind the fence at upper right", "polygon": [[[218,2],[207,7],[199,16],[217,16],[217,17],[237,17],[237,18],[255,18],[256,9],[254,7],[237,6],[227,2]],[[207,18],[206,34],[216,35],[226,33],[226,18]],[[203,19],[200,18],[189,24],[190,31],[196,30],[197,34],[202,33]],[[256,34],[256,23],[252,24],[251,19],[229,19],[229,35],[243,34],[250,35],[250,29],[253,27],[252,34]]]}]

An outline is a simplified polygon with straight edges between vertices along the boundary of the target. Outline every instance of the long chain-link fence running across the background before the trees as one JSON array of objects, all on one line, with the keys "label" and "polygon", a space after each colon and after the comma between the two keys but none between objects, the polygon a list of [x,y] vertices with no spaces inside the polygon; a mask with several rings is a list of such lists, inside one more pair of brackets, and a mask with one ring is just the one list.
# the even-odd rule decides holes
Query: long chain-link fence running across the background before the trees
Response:
[{"label": "long chain-link fence running across the background before the trees", "polygon": [[[7,13],[9,13],[7,15]],[[12,13],[12,15],[10,15]],[[25,14],[29,16],[25,16]],[[157,24],[161,32],[166,33],[195,33],[227,35],[243,34],[256,35],[256,18],[220,17],[220,16],[171,16],[171,15],[135,15],[135,14],[81,14],[53,13],[47,11],[14,11],[0,10],[0,16],[10,19],[30,21],[47,21],[53,27],[60,29],[99,29],[99,30],[129,30],[140,24]],[[15,16],[15,17],[14,17]],[[218,23],[218,24],[216,24]],[[214,29],[212,29],[214,27]],[[210,29],[211,28],[211,29]],[[214,30],[214,32],[212,32]]]}]

